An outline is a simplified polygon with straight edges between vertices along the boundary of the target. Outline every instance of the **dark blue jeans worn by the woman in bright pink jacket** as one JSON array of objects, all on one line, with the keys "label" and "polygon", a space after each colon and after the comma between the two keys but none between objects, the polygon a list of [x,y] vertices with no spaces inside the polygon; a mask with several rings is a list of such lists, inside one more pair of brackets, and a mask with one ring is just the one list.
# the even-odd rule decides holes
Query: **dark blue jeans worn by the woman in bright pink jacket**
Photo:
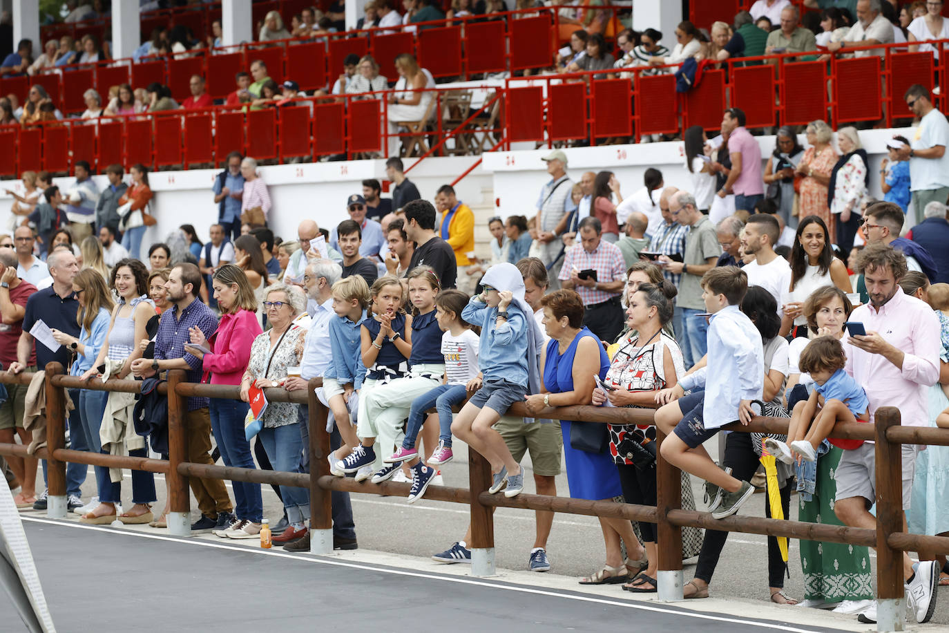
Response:
[{"label": "dark blue jeans worn by the woman in bright pink jacket", "polygon": [[[249,406],[247,402],[240,400],[211,399],[211,430],[225,466],[255,468],[251,456],[251,442],[244,435],[244,418]],[[260,523],[264,514],[260,484],[235,481],[233,491],[234,513],[237,518]]]}]

